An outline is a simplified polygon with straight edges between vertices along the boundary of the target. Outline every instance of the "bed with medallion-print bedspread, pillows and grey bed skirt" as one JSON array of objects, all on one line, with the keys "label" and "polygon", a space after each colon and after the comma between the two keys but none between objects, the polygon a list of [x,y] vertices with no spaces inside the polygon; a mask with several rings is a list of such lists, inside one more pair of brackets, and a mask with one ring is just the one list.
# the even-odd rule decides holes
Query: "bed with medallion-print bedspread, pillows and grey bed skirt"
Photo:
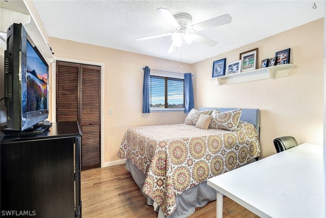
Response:
[{"label": "bed with medallion-print bedspread, pillows and grey bed skirt", "polygon": [[158,217],[187,217],[216,200],[208,178],[260,156],[259,131],[259,109],[193,109],[184,124],[130,128],[118,156]]}]

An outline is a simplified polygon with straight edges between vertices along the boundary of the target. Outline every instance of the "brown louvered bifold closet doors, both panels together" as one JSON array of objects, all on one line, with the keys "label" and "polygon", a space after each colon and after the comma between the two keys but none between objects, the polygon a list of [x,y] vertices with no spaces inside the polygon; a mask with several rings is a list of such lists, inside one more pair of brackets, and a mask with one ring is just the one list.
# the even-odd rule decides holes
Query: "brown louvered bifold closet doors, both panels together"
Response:
[{"label": "brown louvered bifold closet doors, both panels together", "polygon": [[78,121],[82,130],[82,170],[100,167],[101,67],[56,62],[57,122]]}]

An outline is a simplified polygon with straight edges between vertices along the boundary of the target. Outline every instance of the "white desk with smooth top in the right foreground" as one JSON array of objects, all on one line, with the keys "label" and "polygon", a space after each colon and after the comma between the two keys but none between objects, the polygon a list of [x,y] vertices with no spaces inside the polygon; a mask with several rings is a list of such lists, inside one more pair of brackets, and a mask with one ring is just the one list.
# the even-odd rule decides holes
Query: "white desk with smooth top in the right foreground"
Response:
[{"label": "white desk with smooth top in the right foreground", "polygon": [[304,143],[207,180],[217,191],[261,217],[326,217],[323,147]]}]

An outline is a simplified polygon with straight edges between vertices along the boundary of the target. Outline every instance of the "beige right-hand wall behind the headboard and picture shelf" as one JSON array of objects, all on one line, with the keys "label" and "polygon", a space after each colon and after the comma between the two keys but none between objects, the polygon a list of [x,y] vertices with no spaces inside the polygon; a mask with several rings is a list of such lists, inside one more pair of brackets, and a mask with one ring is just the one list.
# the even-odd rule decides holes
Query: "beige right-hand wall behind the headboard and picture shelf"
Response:
[{"label": "beige right-hand wall behind the headboard and picture shelf", "polygon": [[[273,139],[290,135],[298,143],[323,140],[323,19],[268,37],[231,52],[193,64],[196,74],[196,107],[242,107],[261,110],[262,157],[275,154]],[[239,35],[239,37],[241,37]],[[258,47],[261,60],[291,48],[288,77],[216,86],[212,63]]]}]

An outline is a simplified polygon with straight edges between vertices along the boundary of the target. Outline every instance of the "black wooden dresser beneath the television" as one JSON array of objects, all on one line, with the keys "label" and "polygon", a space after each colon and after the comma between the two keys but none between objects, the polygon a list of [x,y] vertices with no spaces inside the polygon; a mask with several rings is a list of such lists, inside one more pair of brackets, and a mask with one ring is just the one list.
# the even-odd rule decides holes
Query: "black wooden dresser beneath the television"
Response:
[{"label": "black wooden dresser beneath the television", "polygon": [[1,216],[82,217],[78,122],[1,134]]}]

